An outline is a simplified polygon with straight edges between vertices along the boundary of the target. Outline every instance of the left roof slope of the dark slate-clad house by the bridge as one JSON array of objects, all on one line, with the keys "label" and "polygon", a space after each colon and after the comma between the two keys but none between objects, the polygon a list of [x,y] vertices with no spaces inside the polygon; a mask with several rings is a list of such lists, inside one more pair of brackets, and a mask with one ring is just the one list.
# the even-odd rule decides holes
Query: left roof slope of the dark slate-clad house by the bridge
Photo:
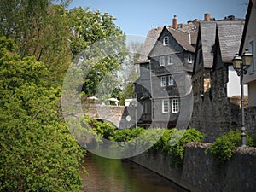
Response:
[{"label": "left roof slope of the dark slate-clad house by the bridge", "polygon": [[144,41],[143,48],[140,51],[140,56],[136,61],[137,64],[149,62],[148,55],[151,49],[154,48],[154,44],[157,42],[157,39],[160,36],[160,33],[163,31],[164,26],[153,28],[148,32],[147,38]]}]

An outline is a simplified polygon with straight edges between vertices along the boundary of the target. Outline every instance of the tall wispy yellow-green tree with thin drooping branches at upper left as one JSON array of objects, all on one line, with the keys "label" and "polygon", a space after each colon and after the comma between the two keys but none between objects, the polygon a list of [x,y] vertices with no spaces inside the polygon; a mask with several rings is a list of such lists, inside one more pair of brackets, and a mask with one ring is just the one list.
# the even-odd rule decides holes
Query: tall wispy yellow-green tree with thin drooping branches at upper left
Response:
[{"label": "tall wispy yellow-green tree with thin drooping branches at upper left", "polygon": [[[61,4],[54,4],[59,2]],[[71,52],[68,39],[69,1],[0,1],[0,37],[13,38],[21,58],[35,56],[49,69],[48,79],[59,85],[66,73]]]}]

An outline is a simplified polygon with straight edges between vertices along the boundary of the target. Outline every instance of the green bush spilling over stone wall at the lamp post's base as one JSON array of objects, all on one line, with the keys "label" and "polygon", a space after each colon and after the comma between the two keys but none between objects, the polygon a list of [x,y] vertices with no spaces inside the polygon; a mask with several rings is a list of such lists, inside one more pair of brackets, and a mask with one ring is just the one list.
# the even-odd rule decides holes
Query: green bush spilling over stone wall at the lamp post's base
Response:
[{"label": "green bush spilling over stone wall at the lamp post's base", "polygon": [[[207,152],[212,154],[215,162],[220,166],[231,159],[235,148],[239,146],[241,146],[241,131],[230,131],[225,135],[218,137]],[[256,140],[249,133],[247,133],[247,146],[256,147]]]}]

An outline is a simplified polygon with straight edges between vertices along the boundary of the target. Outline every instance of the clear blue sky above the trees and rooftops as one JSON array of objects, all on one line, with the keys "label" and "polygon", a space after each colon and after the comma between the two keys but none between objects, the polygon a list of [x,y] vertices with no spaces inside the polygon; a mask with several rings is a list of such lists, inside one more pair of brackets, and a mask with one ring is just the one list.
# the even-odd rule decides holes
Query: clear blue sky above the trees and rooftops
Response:
[{"label": "clear blue sky above the trees and rooftops", "polygon": [[69,7],[108,12],[127,35],[146,36],[151,26],[172,25],[173,15],[177,15],[178,23],[203,20],[205,13],[216,20],[228,15],[245,18],[246,3],[247,0],[73,0]]}]

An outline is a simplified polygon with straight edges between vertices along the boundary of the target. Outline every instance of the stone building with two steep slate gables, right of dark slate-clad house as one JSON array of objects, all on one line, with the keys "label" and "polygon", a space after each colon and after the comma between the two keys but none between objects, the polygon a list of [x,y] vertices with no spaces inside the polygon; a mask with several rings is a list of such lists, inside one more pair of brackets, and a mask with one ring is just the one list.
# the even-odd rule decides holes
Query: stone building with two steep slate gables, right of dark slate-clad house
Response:
[{"label": "stone building with two steep slate gables, right of dark slate-clad house", "polygon": [[[195,50],[192,75],[194,108],[191,125],[204,134],[205,141],[239,125],[240,82],[232,67],[239,50],[244,21],[202,21]],[[235,98],[234,98],[235,97]]]}]

